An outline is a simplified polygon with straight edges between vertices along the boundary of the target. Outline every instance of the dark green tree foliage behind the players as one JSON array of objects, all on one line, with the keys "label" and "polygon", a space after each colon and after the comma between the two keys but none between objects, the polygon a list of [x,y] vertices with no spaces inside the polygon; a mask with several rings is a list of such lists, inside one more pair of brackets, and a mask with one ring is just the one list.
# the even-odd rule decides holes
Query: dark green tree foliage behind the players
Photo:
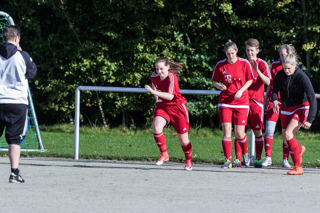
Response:
[{"label": "dark green tree foliage behind the players", "polygon": [[[181,89],[214,90],[214,66],[226,58],[224,44],[260,41],[259,57],[269,65],[277,48],[292,43],[319,93],[319,1],[305,0],[41,0],[7,1],[1,10],[21,27],[21,46],[38,66],[30,81],[41,123],[70,122],[79,85],[143,87],[151,84],[154,61],[183,62]],[[307,55],[309,54],[309,59]],[[310,63],[309,65],[307,65]],[[152,118],[150,94],[81,92],[81,118],[102,123],[137,115]],[[195,126],[217,126],[217,96],[186,95]],[[129,120],[129,121],[128,121]],[[142,122],[142,123],[143,123]]]}]

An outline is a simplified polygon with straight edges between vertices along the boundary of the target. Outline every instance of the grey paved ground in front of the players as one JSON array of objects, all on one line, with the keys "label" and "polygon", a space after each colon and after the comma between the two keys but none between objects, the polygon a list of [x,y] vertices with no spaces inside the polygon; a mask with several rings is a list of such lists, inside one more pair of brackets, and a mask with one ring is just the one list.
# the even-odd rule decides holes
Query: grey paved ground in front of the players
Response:
[{"label": "grey paved ground in front of the players", "polygon": [[8,183],[0,157],[0,212],[319,212],[320,169],[21,158],[26,183]]}]

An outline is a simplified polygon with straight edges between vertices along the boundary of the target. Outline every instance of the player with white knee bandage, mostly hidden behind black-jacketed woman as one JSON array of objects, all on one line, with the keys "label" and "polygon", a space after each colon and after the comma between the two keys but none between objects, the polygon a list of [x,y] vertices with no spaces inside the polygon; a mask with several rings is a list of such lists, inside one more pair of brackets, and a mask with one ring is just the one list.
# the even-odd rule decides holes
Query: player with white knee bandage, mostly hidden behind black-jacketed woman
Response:
[{"label": "player with white knee bandage, mostly hidden behind black-jacketed woman", "polygon": [[[262,166],[269,166],[272,164],[271,160],[271,153],[272,153],[272,144],[273,144],[273,134],[276,129],[276,122],[278,120],[279,114],[274,113],[272,109],[272,101],[271,101],[271,93],[272,93],[272,84],[273,80],[275,79],[276,73],[280,70],[282,70],[282,58],[287,54],[296,54],[296,50],[292,47],[292,44],[284,44],[281,45],[278,49],[279,55],[280,55],[280,61],[275,61],[271,64],[270,72],[271,72],[271,82],[268,85],[266,96],[263,102],[264,107],[266,108],[266,132],[264,135],[264,149],[266,152],[266,157],[264,158]],[[278,100],[280,100],[280,94],[278,93]],[[279,110],[281,111],[282,105],[279,105]],[[282,117],[280,116],[280,120],[282,123]],[[290,168],[290,164],[288,163],[289,159],[289,149],[288,146],[284,143],[282,143],[282,149],[283,149],[283,160],[282,160],[282,167],[284,168]]]}]

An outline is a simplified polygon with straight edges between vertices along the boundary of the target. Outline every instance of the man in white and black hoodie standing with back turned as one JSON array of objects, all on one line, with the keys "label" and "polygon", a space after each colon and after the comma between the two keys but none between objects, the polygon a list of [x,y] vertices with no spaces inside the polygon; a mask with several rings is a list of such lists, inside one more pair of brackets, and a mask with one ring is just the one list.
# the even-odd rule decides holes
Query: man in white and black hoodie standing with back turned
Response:
[{"label": "man in white and black hoodie standing with back turned", "polygon": [[0,136],[5,128],[11,166],[9,182],[24,183],[18,170],[21,141],[28,131],[28,78],[34,78],[37,67],[29,54],[19,46],[20,28],[4,27],[0,44]]}]

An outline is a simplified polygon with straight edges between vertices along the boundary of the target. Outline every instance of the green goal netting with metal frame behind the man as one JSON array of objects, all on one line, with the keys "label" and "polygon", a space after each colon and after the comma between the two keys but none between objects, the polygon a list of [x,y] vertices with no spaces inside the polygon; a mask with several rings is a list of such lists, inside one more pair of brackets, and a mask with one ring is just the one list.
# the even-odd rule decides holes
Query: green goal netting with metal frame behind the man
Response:
[{"label": "green goal netting with metal frame behind the man", "polygon": [[[13,19],[9,14],[0,11],[0,41],[3,41],[2,30],[7,25],[14,25]],[[30,89],[28,88],[28,117],[29,128],[25,139],[21,142],[21,151],[45,151],[39,131],[39,126],[36,118],[36,111],[34,109]],[[8,144],[5,141],[4,133],[0,137],[0,151],[8,150]]]}]

